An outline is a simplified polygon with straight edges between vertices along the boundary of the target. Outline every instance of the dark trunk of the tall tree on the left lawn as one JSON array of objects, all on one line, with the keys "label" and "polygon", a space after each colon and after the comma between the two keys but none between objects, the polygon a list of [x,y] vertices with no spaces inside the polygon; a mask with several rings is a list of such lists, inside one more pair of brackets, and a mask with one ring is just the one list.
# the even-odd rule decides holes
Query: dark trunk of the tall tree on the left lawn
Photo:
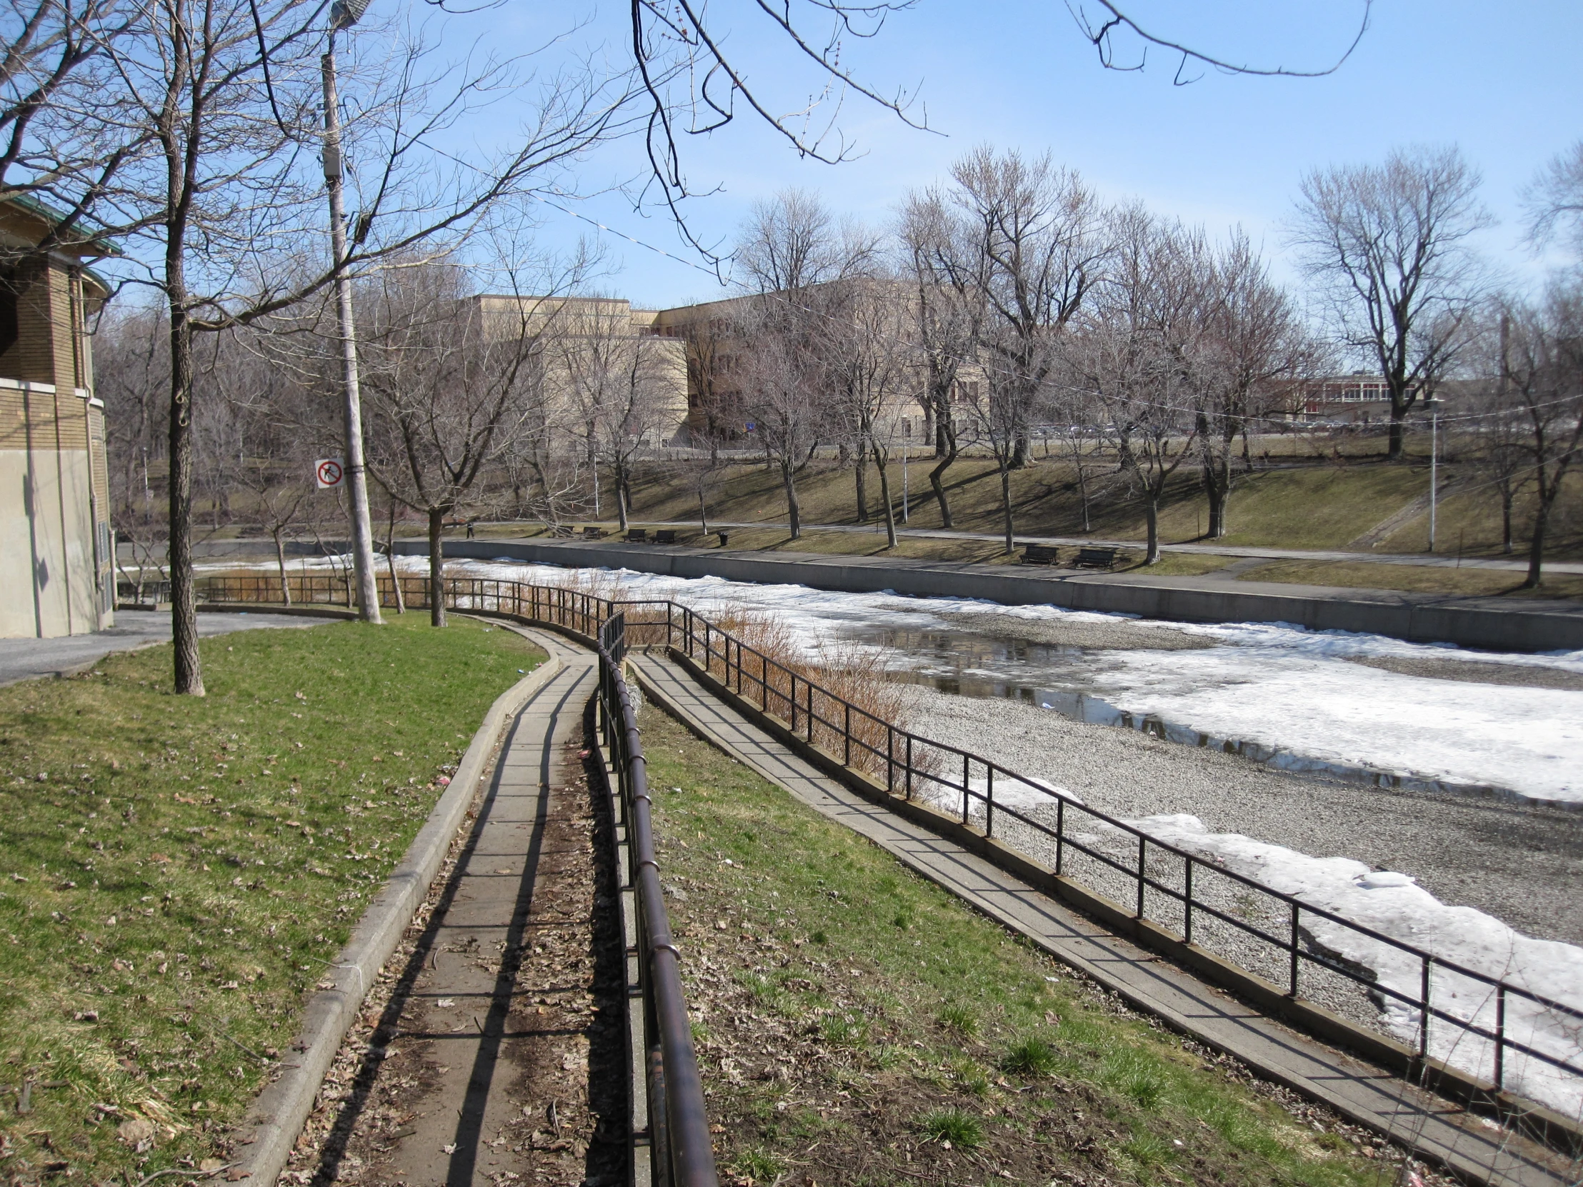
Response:
[{"label": "dark trunk of the tall tree on the left lawn", "polygon": [[198,655],[198,605],[193,587],[193,331],[184,309],[180,250],[166,256],[171,304],[171,643],[176,652],[176,693],[203,696],[203,660]]}]

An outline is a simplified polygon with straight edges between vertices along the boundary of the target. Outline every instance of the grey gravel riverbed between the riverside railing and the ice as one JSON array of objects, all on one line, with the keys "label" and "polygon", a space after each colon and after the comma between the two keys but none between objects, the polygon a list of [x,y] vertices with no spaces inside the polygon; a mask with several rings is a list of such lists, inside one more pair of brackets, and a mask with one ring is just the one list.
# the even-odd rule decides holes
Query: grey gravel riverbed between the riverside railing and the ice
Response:
[{"label": "grey gravel riverbed between the riverside railing and the ice", "polygon": [[1409,874],[1442,902],[1583,942],[1583,813],[1287,774],[1000,698],[926,687],[913,696],[920,733],[1048,779],[1102,812],[1187,812],[1214,832]]}]

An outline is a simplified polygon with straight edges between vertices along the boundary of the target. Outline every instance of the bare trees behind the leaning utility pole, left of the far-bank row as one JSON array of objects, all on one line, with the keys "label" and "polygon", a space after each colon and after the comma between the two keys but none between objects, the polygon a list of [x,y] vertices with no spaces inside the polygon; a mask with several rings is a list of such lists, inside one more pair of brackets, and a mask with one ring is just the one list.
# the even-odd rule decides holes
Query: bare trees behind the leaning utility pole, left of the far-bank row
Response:
[{"label": "bare trees behind the leaning utility pole, left of the far-bank row", "polygon": [[[567,298],[592,263],[540,261],[530,282],[522,269],[497,274],[505,283],[484,294],[478,269],[410,260],[355,288],[367,465],[386,546],[397,519],[419,518],[431,581],[448,522],[587,514],[602,473],[625,521],[636,454],[674,434],[674,343],[635,334],[625,302]],[[114,519],[150,565],[168,544],[166,332],[161,310],[123,310],[100,332]],[[256,525],[274,540],[290,600],[287,540],[345,535],[340,494],[317,489],[313,476],[315,461],[342,448],[339,342],[302,313],[204,347],[193,415],[199,508],[207,502],[214,527]],[[442,600],[431,605],[443,619]]]}]

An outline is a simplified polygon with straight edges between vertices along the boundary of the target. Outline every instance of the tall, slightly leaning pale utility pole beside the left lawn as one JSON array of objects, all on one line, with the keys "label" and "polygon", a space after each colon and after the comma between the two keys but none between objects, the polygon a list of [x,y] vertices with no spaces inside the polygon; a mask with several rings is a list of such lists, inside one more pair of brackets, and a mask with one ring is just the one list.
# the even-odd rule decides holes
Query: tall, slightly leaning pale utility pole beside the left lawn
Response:
[{"label": "tall, slightly leaning pale utility pole beside the left lawn", "polygon": [[329,247],[336,271],[336,329],[340,336],[340,377],[347,421],[347,478],[351,491],[351,562],[358,575],[358,616],[380,624],[380,587],[374,571],[374,529],[369,522],[369,478],[363,459],[363,397],[358,391],[358,328],[351,315],[351,277],[347,275],[347,210],[340,177],[340,100],[336,95],[336,33],[358,24],[367,0],[336,0],[329,9],[329,46],[321,59],[325,76],[325,188],[329,190]]}]

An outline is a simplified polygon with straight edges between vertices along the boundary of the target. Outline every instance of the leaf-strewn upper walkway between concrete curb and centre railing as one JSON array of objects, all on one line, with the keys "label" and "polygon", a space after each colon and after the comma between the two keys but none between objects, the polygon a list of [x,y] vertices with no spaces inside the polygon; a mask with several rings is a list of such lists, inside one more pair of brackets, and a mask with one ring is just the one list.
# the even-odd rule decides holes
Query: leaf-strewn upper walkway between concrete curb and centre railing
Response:
[{"label": "leaf-strewn upper walkway between concrete curb and centre railing", "polygon": [[[568,747],[583,738],[595,658],[549,631],[521,633],[565,666],[510,726],[416,943],[418,970],[382,1021],[386,1057],[337,1119],[347,1136],[312,1166],[321,1181],[348,1166],[363,1179],[408,1187],[565,1184],[592,1174],[583,1159],[594,1132],[583,1124],[589,1054],[608,1064],[609,1045],[594,1043],[590,1026],[609,1029],[614,1016],[590,1008],[571,972],[590,967],[579,946],[592,907],[590,886],[581,886],[592,883],[592,837],[578,804],[581,764]],[[568,880],[581,886],[571,897]],[[619,1060],[616,1076],[625,1076]],[[530,1103],[546,1087],[559,1094],[560,1111],[551,1105],[551,1116],[554,1136],[567,1127],[565,1141],[546,1144],[533,1133],[548,1128],[541,1113],[552,1098]],[[391,1116],[404,1124],[386,1135]]]}]

